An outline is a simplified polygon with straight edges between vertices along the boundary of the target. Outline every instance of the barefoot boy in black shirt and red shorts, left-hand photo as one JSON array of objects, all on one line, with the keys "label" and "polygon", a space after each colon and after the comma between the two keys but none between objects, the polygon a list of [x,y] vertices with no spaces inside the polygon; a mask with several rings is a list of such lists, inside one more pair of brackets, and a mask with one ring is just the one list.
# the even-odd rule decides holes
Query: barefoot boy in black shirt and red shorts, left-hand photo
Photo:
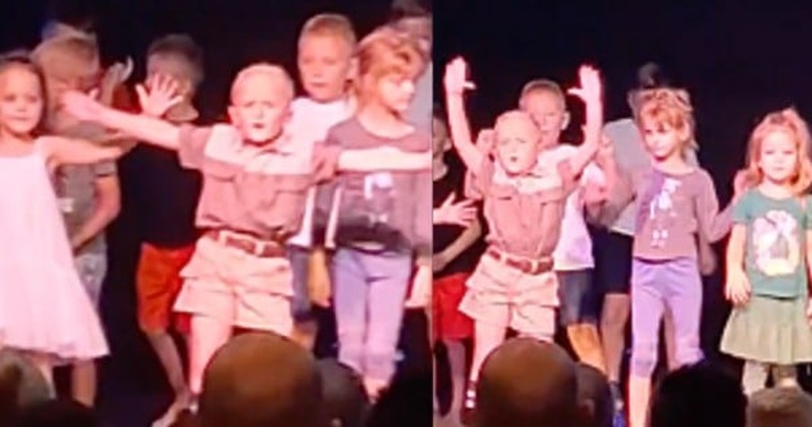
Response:
[{"label": "barefoot boy in black shirt and red shorts, left-hand photo", "polygon": [[[182,101],[163,113],[164,120],[181,125],[198,119],[192,99],[202,81],[203,60],[189,36],[171,34],[154,40],[147,50],[146,76],[151,90],[162,84],[161,76],[176,82]],[[163,111],[143,112],[161,117]],[[181,290],[181,269],[189,262],[198,237],[195,207],[200,174],[183,169],[178,156],[162,147],[138,146],[128,161],[136,171],[133,207],[142,242],[136,276],[138,325],[161,361],[174,393],[174,402],[154,423],[163,426],[171,424],[191,398],[181,352],[170,328],[172,304]]]}]

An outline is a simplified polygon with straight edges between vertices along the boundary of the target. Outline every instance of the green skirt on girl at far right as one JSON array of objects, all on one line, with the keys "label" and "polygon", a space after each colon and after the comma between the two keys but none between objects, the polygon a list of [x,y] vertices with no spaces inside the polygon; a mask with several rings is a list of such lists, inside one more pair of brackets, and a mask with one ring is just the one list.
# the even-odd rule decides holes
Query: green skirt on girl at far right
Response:
[{"label": "green skirt on girl at far right", "polygon": [[721,351],[743,360],[779,365],[812,362],[807,298],[754,295],[730,312]]}]

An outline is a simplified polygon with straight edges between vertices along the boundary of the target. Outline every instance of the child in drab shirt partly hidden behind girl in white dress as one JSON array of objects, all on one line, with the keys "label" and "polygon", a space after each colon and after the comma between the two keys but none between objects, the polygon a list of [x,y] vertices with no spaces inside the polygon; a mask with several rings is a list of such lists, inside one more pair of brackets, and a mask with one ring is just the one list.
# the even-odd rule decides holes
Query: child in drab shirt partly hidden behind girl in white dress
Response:
[{"label": "child in drab shirt partly hidden behind girl in white dress", "polygon": [[[104,129],[74,120],[62,109],[59,97],[68,90],[87,92],[97,87],[102,72],[95,39],[79,31],[57,35],[34,49],[32,58],[41,67],[49,94],[47,126],[56,135],[101,138]],[[107,273],[104,229],[119,215],[119,177],[114,161],[95,165],[64,165],[57,170],[56,190],[67,234],[74,250],[76,269],[95,307],[99,307]],[[72,394],[93,406],[96,397],[93,360],[73,366]]]}]

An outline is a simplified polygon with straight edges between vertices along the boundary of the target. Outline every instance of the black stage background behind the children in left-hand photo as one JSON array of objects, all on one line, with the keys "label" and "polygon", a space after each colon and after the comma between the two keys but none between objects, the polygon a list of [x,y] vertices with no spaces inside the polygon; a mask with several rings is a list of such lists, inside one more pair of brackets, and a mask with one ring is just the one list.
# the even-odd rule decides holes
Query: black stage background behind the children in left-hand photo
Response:
[{"label": "black stage background behind the children in left-hand photo", "polygon": [[[57,0],[55,4],[4,0],[0,51],[34,47],[43,23],[55,13],[72,20],[89,14],[96,22],[105,61],[131,56],[137,63],[137,81],[144,76],[144,56],[151,40],[168,32],[188,32],[204,49],[206,60],[206,79],[196,103],[204,120],[216,120],[225,117],[228,88],[241,67],[266,60],[281,63],[296,76],[296,40],[307,18],[344,13],[362,37],[388,19],[391,1]],[[128,179],[134,171],[127,157],[119,162],[119,169],[124,204],[108,233],[110,271],[102,295],[102,319],[112,356],[102,361],[99,410],[104,425],[143,427],[162,413],[170,396],[158,361],[137,328],[134,277],[140,242],[128,206]],[[425,330],[421,319],[412,317],[409,322]],[[426,391],[428,423],[428,387]]]}]

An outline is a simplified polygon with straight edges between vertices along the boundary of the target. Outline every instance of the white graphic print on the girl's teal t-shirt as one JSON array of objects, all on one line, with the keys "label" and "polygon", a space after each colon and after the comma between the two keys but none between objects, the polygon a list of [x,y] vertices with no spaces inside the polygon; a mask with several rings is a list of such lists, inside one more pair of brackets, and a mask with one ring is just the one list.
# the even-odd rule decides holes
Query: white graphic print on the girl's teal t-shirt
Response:
[{"label": "white graphic print on the girl's teal t-shirt", "polygon": [[765,276],[792,274],[800,262],[798,222],[784,210],[755,218],[751,242],[755,266]]}]

